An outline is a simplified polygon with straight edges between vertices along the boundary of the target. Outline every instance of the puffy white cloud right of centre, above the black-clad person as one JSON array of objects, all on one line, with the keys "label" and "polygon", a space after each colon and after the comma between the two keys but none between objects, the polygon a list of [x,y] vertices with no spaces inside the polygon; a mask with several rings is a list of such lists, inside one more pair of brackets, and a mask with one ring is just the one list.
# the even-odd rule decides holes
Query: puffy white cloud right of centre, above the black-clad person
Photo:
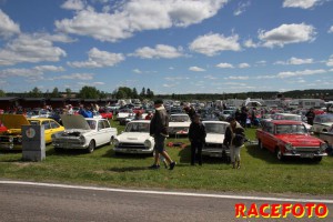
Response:
[{"label": "puffy white cloud right of centre, above the black-clad person", "polygon": [[212,57],[219,54],[221,51],[240,51],[241,46],[238,41],[238,34],[224,37],[223,34],[209,33],[198,37],[190,44],[190,49],[194,52]]}]

